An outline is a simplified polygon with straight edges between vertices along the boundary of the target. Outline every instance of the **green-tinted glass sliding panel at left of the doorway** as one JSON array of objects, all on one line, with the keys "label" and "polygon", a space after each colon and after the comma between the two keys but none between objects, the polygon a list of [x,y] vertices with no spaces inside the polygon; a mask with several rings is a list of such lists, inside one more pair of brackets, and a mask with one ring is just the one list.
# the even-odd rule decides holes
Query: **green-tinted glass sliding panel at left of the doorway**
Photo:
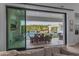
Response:
[{"label": "green-tinted glass sliding panel at left of the doorway", "polygon": [[7,49],[25,49],[25,10],[7,8]]}]

